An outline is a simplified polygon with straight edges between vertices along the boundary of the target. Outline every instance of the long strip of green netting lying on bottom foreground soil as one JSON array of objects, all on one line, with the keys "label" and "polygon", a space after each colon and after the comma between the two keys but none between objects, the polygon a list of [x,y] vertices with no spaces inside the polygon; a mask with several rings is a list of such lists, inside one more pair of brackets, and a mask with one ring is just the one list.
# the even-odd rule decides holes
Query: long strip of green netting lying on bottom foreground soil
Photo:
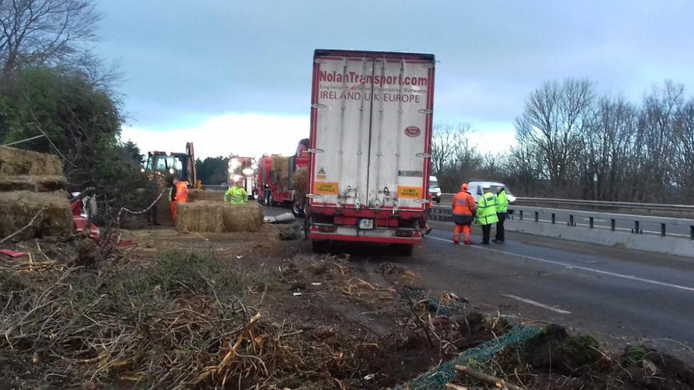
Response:
[{"label": "long strip of green netting lying on bottom foreground soil", "polygon": [[456,359],[431,369],[412,381],[395,387],[395,390],[444,390],[455,377],[456,364],[471,365],[471,363],[484,363],[491,360],[498,352],[506,347],[522,345],[540,333],[540,328],[535,326],[523,326],[516,324],[506,334],[496,339],[489,340],[482,345],[462,352]]}]

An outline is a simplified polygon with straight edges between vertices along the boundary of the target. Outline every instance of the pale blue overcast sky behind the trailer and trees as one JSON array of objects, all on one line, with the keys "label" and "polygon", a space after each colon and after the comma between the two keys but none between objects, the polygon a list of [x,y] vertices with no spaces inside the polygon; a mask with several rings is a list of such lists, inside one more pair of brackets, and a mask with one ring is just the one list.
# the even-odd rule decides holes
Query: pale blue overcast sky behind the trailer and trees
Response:
[{"label": "pale blue overcast sky behind the trailer and trees", "polygon": [[498,151],[544,80],[587,77],[634,101],[694,88],[694,1],[98,0],[98,50],[118,60],[143,151],[293,153],[309,133],[316,48],[437,56],[434,121],[492,131]]}]

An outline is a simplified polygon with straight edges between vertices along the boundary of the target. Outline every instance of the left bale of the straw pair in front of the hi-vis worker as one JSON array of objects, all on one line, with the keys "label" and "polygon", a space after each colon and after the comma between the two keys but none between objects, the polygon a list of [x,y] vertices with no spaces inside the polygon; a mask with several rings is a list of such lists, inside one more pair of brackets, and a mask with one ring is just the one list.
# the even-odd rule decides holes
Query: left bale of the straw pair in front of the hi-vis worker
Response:
[{"label": "left bale of the straw pair in front of the hi-vis worker", "polygon": [[178,203],[176,207],[176,229],[181,232],[222,232],[224,224],[221,202],[200,200]]}]

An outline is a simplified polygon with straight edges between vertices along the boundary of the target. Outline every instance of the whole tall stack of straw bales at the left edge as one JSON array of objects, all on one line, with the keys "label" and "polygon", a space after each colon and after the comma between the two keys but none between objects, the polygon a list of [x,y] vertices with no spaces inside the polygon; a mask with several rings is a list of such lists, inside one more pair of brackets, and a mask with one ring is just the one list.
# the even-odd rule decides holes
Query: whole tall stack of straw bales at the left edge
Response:
[{"label": "whole tall stack of straw bales at the left edge", "polygon": [[0,146],[0,238],[41,215],[22,237],[73,232],[67,181],[58,156]]}]

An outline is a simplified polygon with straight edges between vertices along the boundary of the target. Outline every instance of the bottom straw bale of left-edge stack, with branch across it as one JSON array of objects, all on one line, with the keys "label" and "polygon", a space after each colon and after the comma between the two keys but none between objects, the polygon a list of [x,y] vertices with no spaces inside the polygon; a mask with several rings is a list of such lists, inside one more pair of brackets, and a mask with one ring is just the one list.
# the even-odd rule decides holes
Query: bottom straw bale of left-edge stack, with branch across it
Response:
[{"label": "bottom straw bale of left-edge stack, with branch across it", "polygon": [[13,191],[0,193],[0,237],[7,237],[26,226],[44,207],[46,210],[36,219],[33,226],[18,238],[66,236],[73,232],[73,217],[66,193]]}]

